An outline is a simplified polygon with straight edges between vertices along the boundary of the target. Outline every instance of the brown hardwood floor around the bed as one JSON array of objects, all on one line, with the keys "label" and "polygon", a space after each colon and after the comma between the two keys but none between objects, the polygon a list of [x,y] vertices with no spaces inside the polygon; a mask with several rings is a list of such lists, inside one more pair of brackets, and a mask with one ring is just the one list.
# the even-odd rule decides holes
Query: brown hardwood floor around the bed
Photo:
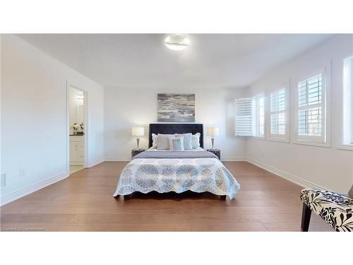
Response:
[{"label": "brown hardwood floor around the bed", "polygon": [[[45,231],[299,231],[301,187],[246,162],[225,162],[241,189],[114,199],[125,162],[104,162],[0,208],[1,229]],[[309,231],[332,231],[311,215]]]}]

